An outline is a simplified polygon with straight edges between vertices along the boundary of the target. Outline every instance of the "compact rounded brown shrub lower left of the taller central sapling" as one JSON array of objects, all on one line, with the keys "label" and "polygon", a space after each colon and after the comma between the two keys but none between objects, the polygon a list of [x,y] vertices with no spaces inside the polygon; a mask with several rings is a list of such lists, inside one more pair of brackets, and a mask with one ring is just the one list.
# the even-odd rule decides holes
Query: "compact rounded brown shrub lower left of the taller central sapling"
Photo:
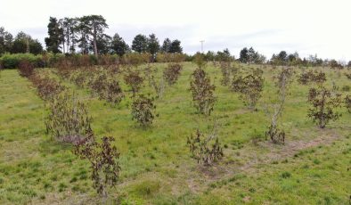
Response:
[{"label": "compact rounded brown shrub lower left of the taller central sapling", "polygon": [[132,103],[132,119],[136,120],[141,126],[146,127],[152,124],[155,118],[152,98],[147,98],[143,94],[139,95]]}]

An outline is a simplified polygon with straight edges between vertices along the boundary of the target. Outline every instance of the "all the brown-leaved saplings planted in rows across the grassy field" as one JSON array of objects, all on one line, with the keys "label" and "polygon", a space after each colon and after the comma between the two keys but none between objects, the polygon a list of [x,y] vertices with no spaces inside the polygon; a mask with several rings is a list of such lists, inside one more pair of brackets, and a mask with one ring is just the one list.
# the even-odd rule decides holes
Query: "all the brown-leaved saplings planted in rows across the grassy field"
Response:
[{"label": "all the brown-leaved saplings planted in rows across the grassy field", "polygon": [[[192,73],[190,90],[194,105],[205,115],[210,115],[216,102],[214,94],[216,86],[211,84],[210,78],[203,69],[204,64],[197,63],[198,69]],[[224,86],[230,86],[233,92],[240,94],[241,100],[251,110],[255,110],[257,101],[261,97],[264,78],[262,70],[238,70],[229,62],[223,62],[220,66],[225,74],[222,79]],[[167,85],[175,84],[180,76],[182,67],[180,64],[169,64],[163,72],[163,78],[159,81],[156,78],[156,70],[147,66],[143,71],[149,85],[154,88],[158,97],[161,97]],[[96,94],[100,99],[106,100],[111,104],[121,102],[125,94],[116,80],[115,75],[124,73],[124,80],[131,87],[132,115],[142,126],[148,126],[154,119],[153,99],[144,97],[139,92],[144,78],[140,70],[127,68],[113,68],[109,70],[69,70],[66,77],[70,78],[78,86],[88,86],[92,94]],[[76,94],[69,92],[65,86],[61,86],[57,80],[50,78],[45,72],[37,73],[33,70],[29,62],[20,63],[20,75],[29,78],[33,85],[37,87],[38,95],[45,101],[49,109],[49,115],[45,119],[46,131],[60,142],[73,143],[74,153],[80,158],[86,159],[91,164],[92,180],[94,188],[102,197],[107,196],[107,186],[118,182],[120,172],[119,153],[115,146],[111,145],[114,138],[103,136],[102,142],[96,140],[91,129],[92,119],[86,109],[86,104],[78,99]],[[228,78],[230,76],[230,78]],[[278,122],[282,119],[282,111],[286,96],[289,94],[289,86],[292,82],[293,70],[282,69],[274,78],[277,89],[277,101],[269,106],[266,105],[265,111],[270,116],[271,124],[268,127],[266,136],[269,136],[273,143],[284,143],[285,133],[278,128]],[[111,78],[112,77],[112,78]],[[306,72],[298,78],[301,84],[316,83],[317,88],[310,88],[308,101],[312,103],[312,108],[308,116],[317,121],[320,127],[331,119],[338,119],[339,114],[334,110],[341,103],[341,95],[335,91],[330,91],[323,86],[326,81],[325,74],[322,72]],[[351,112],[351,97],[347,95],[345,102],[348,111]],[[187,144],[192,158],[204,165],[211,165],[216,160],[224,156],[223,147],[216,134],[204,135],[197,129],[196,132],[188,137]]]}]

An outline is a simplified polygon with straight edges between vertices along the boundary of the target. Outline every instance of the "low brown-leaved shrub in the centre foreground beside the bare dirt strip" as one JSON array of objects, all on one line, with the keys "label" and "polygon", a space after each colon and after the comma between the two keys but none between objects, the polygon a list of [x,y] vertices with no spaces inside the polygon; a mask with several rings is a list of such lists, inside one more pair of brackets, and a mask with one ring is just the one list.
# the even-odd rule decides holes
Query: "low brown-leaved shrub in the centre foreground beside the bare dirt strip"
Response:
[{"label": "low brown-leaved shrub in the centre foreground beside the bare dirt strip", "polygon": [[209,135],[206,137],[200,132],[198,128],[196,133],[190,135],[187,139],[189,151],[192,153],[192,158],[198,163],[209,166],[217,160],[221,160],[224,156],[223,147],[219,143],[216,135]]}]

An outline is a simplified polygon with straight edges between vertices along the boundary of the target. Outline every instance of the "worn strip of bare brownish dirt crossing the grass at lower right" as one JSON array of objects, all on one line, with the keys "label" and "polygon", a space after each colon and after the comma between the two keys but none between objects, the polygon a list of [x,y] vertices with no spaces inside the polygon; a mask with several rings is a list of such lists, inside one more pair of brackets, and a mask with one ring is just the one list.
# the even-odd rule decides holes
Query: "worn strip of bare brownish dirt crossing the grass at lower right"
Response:
[{"label": "worn strip of bare brownish dirt crossing the grass at lower right", "polygon": [[[283,145],[273,144],[269,141],[258,143],[256,146],[249,144],[238,150],[240,156],[233,156],[233,158],[244,159],[240,164],[221,164],[212,168],[197,168],[202,177],[199,180],[187,179],[188,187],[194,193],[201,193],[209,184],[216,181],[225,180],[238,173],[257,173],[259,165],[286,160],[302,150],[328,145],[340,138],[340,135],[332,129],[317,129],[314,132],[317,132],[318,136],[304,140],[290,140]],[[306,135],[308,134],[306,133]]]}]

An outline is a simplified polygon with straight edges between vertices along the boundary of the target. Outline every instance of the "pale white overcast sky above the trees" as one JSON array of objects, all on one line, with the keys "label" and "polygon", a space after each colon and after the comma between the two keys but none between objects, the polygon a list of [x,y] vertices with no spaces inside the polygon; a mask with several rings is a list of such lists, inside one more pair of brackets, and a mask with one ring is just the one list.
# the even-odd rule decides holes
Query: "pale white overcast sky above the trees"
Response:
[{"label": "pale white overcast sky above the trees", "polygon": [[301,57],[351,61],[350,0],[1,0],[0,27],[24,31],[44,45],[49,17],[101,14],[106,33],[130,45],[137,34],[179,39],[185,53],[252,46],[268,58],[282,50]]}]

